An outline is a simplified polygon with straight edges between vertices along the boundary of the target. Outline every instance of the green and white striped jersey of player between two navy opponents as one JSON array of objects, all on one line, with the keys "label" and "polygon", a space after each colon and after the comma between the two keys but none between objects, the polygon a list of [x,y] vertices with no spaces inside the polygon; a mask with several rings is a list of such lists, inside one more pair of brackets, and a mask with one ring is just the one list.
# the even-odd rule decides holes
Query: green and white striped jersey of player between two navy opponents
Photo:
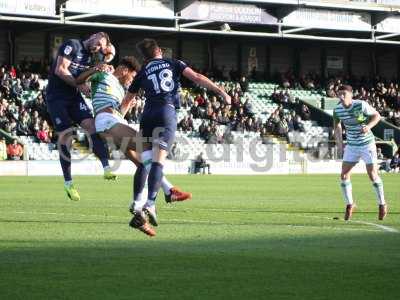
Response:
[{"label": "green and white striped jersey of player between two navy opponents", "polygon": [[106,107],[119,109],[125,90],[119,80],[110,73],[98,72],[90,77],[94,114]]}]

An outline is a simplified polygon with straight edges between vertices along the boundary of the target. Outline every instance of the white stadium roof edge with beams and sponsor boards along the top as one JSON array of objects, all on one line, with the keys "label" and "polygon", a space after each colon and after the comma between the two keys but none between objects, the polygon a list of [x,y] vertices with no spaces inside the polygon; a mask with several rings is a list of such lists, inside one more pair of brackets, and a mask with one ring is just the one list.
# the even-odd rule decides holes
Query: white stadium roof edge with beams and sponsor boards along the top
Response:
[{"label": "white stadium roof edge with beams and sponsor boards along the top", "polygon": [[156,5],[156,10],[148,7],[131,15],[121,11],[123,5],[113,12],[112,7],[84,7],[87,1],[70,0],[56,1],[54,15],[27,16],[0,10],[0,21],[398,45],[400,4],[390,1],[152,0],[147,3]]}]

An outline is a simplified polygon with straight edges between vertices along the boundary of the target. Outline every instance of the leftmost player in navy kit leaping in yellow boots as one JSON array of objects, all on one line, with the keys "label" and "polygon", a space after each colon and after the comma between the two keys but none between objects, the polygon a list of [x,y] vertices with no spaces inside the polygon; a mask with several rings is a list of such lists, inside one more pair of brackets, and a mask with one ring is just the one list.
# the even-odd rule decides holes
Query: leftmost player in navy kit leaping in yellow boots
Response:
[{"label": "leftmost player in navy kit leaping in yellow boots", "polygon": [[67,40],[59,48],[49,74],[47,109],[58,133],[58,144],[61,145],[58,151],[65,180],[64,188],[67,196],[74,201],[80,200],[71,177],[70,148],[74,125],[80,125],[90,134],[93,152],[104,168],[104,178],[116,179],[108,164],[108,151],[96,134],[93,115],[81,95],[88,96],[90,87],[87,83],[78,85],[75,81],[79,74],[93,67],[93,56],[105,53],[110,45],[110,38],[104,32],[95,33],[86,40]]}]

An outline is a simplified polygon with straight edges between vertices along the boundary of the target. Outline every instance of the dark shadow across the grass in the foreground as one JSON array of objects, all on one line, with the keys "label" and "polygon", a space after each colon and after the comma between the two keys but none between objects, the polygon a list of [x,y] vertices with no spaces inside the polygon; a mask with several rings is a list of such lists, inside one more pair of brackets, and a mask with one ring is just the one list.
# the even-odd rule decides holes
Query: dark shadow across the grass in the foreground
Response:
[{"label": "dark shadow across the grass in the foreground", "polygon": [[398,297],[399,235],[201,239],[194,234],[189,240],[176,235],[172,240],[134,232],[121,240],[2,241],[14,244],[0,252],[2,298]]}]

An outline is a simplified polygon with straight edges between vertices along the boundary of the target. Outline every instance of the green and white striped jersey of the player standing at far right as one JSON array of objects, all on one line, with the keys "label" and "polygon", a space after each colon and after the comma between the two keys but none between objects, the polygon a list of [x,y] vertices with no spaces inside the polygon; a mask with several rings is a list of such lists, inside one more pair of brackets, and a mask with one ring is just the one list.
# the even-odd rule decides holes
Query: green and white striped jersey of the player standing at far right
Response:
[{"label": "green and white striped jersey of the player standing at far right", "polygon": [[344,107],[341,102],[336,105],[333,118],[337,122],[342,121],[346,129],[347,145],[365,146],[375,143],[375,137],[371,131],[361,132],[363,125],[367,125],[370,116],[375,113],[376,110],[362,100],[353,100],[349,108]]}]

